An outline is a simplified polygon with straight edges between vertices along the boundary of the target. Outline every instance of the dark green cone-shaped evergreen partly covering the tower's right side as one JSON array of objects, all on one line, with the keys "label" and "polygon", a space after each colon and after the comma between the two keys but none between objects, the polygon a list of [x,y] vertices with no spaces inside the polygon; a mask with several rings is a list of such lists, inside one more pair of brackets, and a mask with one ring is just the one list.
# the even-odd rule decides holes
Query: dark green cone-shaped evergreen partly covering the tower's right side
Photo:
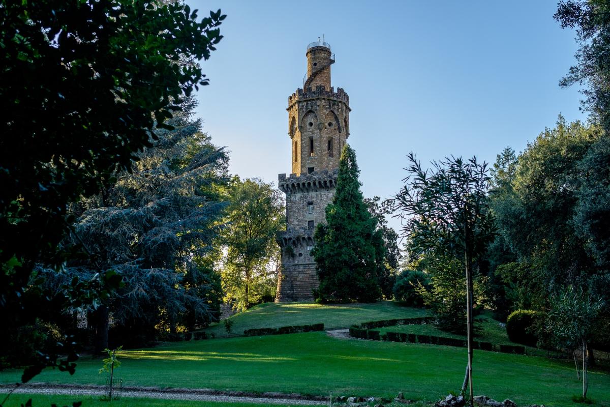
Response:
[{"label": "dark green cone-shaped evergreen partly covering the tower's right side", "polygon": [[364,203],[356,153],[345,145],[326,225],[315,229],[312,250],[321,301],[375,301],[381,297],[379,276],[386,270],[383,233]]}]

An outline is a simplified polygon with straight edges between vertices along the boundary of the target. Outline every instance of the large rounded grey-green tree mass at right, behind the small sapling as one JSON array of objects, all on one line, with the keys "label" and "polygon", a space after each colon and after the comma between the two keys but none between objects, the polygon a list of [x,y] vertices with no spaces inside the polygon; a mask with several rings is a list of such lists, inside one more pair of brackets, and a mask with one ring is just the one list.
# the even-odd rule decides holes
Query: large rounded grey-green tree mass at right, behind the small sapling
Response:
[{"label": "large rounded grey-green tree mass at right, behind the small sapling", "polygon": [[566,284],[608,299],[610,217],[600,199],[610,179],[607,168],[597,166],[610,159],[607,147],[597,126],[560,116],[556,128],[545,129],[519,155],[511,187],[492,194],[502,242],[492,248],[509,252],[495,275],[506,284],[511,306],[548,308]]}]

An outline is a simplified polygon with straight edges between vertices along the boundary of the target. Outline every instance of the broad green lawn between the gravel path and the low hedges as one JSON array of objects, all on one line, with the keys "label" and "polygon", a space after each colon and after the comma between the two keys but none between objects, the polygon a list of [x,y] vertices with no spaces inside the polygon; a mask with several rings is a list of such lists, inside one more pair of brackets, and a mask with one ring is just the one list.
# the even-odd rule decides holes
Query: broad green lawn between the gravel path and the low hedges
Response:
[{"label": "broad green lawn between the gravel path and the low hedges", "polygon": [[[462,384],[464,348],[336,339],[326,333],[180,342],[122,351],[117,375],[126,386],[192,387],[251,392],[391,396],[434,400]],[[43,372],[36,381],[103,384],[99,359],[79,362],[76,374]],[[518,405],[572,406],[580,392],[573,362],[475,351],[475,393]],[[19,372],[0,372],[2,383]],[[610,399],[610,374],[593,370],[589,395]]]}]

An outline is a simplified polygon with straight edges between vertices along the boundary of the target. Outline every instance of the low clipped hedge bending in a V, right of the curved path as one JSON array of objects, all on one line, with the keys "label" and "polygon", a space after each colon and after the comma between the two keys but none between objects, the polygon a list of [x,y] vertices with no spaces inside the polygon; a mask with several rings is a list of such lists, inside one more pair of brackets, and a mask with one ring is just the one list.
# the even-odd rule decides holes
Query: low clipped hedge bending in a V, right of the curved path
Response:
[{"label": "low clipped hedge bending in a V, right of the curved path", "polygon": [[[350,326],[350,336],[359,339],[385,340],[387,342],[409,342],[411,344],[432,344],[463,348],[468,347],[465,339],[403,332],[387,332],[381,334],[379,331],[371,329],[394,325],[423,325],[425,323],[432,323],[433,321],[433,317],[419,317],[365,322],[361,323],[360,325]],[[520,345],[494,345],[490,342],[479,342],[478,340],[475,340],[473,341],[473,347],[480,350],[525,355],[525,347]]]}]

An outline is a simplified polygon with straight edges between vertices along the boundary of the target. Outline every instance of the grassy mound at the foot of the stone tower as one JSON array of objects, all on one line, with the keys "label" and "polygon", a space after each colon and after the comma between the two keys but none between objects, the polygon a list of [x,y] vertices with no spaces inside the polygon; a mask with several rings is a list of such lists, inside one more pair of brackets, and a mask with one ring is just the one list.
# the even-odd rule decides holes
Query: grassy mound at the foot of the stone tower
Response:
[{"label": "grassy mound at the foot of the stone tower", "polygon": [[223,323],[217,323],[206,331],[215,337],[242,335],[252,328],[279,328],[289,325],[324,323],[326,330],[349,328],[355,323],[382,319],[421,317],[424,309],[407,308],[394,301],[378,301],[372,304],[314,304],[314,303],[266,303],[233,315],[231,335]]}]

